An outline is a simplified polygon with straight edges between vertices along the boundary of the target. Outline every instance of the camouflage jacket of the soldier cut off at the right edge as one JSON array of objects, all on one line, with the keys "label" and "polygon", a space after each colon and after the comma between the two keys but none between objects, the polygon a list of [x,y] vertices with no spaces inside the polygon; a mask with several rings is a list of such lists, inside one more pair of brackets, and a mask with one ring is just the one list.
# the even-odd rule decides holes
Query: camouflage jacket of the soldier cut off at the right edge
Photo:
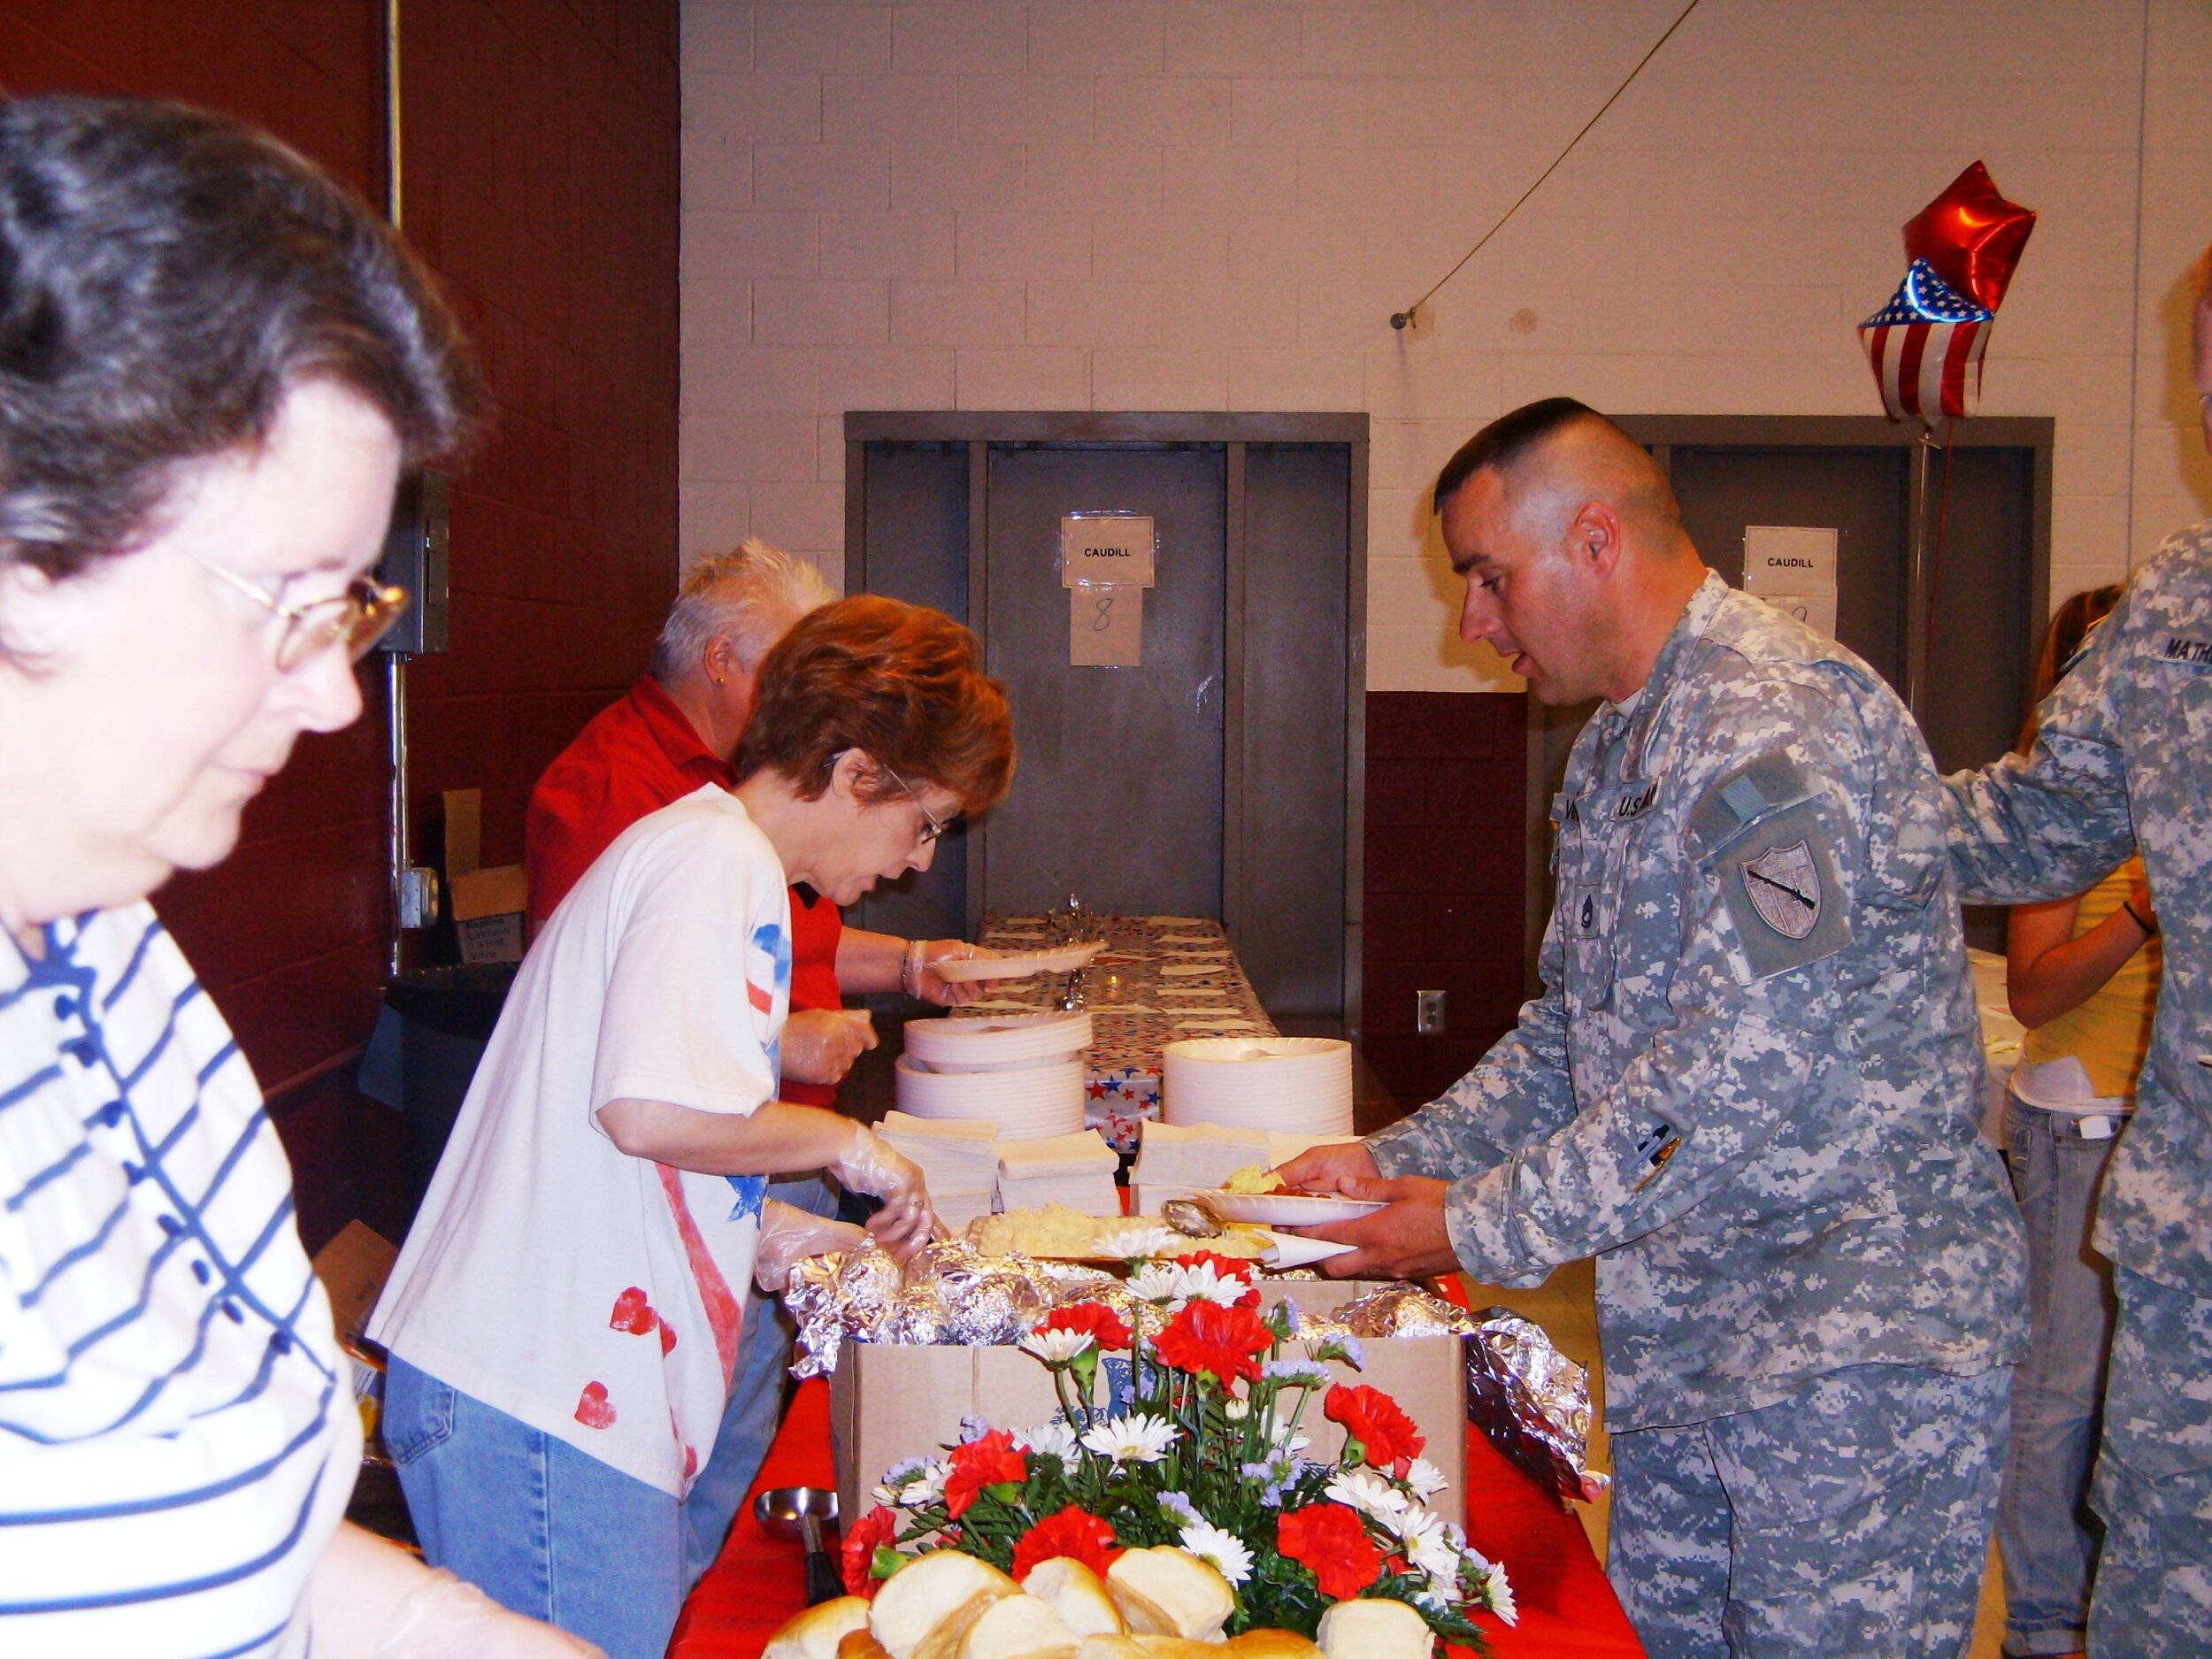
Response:
[{"label": "camouflage jacket of the soldier cut off at the right edge", "polygon": [[1944,781],[1973,898],[2095,887],[2143,854],[2166,973],[2135,1117],[2097,1199],[2097,1248],[2212,1298],[2212,520],[2137,571],[2042,708],[2026,761]]}]

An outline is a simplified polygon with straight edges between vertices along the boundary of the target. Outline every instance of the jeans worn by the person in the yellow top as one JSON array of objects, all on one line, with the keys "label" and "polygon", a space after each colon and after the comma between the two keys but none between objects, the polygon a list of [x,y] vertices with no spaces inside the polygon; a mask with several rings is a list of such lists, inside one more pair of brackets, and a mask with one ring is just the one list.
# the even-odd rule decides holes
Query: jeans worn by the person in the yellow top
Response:
[{"label": "jeans worn by the person in the yellow top", "polygon": [[2117,1139],[2086,1141],[2066,1113],[2004,1106],[2013,1197],[2028,1225],[2028,1356],[2013,1374],[2013,1447],[1997,1504],[2004,1652],[2077,1652],[2104,1528],[2088,1506],[2112,1347],[2112,1263],[2090,1245]]}]

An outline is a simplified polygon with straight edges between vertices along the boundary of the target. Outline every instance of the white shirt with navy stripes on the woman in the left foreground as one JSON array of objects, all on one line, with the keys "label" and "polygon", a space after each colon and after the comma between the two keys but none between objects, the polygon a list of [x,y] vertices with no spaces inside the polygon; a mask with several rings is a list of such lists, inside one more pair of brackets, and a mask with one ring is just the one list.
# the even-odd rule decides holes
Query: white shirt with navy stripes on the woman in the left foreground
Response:
[{"label": "white shirt with navy stripes on the woman in the left foreground", "polygon": [[361,1420],[246,1057],[148,905],[0,933],[0,1655],[301,1655]]}]

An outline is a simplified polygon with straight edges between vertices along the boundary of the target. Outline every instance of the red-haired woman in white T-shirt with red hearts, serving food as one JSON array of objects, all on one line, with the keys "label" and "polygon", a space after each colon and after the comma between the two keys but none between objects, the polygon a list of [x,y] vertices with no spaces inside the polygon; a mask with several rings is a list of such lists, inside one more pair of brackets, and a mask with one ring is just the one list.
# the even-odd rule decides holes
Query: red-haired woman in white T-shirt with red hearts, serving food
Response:
[{"label": "red-haired woman in white T-shirt with red hearts, serving food", "polygon": [[553,911],[369,1323],[431,1562],[615,1659],[661,1652],[754,1250],[836,1228],[763,1219],[768,1177],[823,1168],[880,1197],[869,1225],[894,1248],[936,1228],[874,1130],[776,1099],[787,889],[849,905],[927,869],[1011,772],[973,635],[841,599],[761,664],[734,794],[637,821]]}]

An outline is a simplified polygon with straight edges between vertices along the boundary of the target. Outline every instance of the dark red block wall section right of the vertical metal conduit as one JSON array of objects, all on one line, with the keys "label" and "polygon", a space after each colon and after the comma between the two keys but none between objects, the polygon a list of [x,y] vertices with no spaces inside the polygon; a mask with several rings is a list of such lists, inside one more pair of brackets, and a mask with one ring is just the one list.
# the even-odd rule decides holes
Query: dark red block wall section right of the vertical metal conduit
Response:
[{"label": "dark red block wall section right of the vertical metal conduit", "polygon": [[500,400],[453,489],[453,650],[409,670],[414,790],[482,787],[484,863],[518,863],[675,595],[677,7],[407,0],[403,42],[403,223]]}]

